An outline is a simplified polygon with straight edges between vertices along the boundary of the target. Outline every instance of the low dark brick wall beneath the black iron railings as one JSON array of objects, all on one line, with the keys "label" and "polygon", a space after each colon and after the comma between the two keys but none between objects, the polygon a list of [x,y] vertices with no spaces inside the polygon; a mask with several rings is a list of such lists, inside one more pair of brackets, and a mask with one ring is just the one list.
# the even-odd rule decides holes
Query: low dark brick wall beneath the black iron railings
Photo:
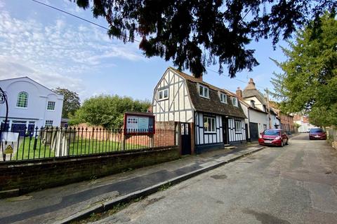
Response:
[{"label": "low dark brick wall beneath the black iron railings", "polygon": [[99,176],[176,160],[178,147],[72,158],[0,163],[0,191],[20,189],[20,194],[61,186]]}]

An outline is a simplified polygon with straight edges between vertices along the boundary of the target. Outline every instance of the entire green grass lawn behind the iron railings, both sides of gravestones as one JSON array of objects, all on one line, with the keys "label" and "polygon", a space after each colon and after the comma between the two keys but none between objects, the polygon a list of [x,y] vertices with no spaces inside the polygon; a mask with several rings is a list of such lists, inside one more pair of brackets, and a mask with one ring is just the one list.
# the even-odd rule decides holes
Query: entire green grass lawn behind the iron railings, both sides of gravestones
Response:
[{"label": "entire green grass lawn behind the iron railings, both sides of gravestones", "polygon": [[[19,149],[13,155],[12,160],[28,160],[34,158],[53,158],[55,157],[55,152],[51,150],[50,146],[44,146],[37,139],[36,150],[34,150],[34,137],[20,138]],[[126,150],[147,148],[147,146],[142,146],[139,144],[126,144]],[[70,143],[69,155],[88,155],[95,153],[106,153],[121,151],[121,143],[115,141],[96,141],[89,139],[75,139],[74,142]]]}]

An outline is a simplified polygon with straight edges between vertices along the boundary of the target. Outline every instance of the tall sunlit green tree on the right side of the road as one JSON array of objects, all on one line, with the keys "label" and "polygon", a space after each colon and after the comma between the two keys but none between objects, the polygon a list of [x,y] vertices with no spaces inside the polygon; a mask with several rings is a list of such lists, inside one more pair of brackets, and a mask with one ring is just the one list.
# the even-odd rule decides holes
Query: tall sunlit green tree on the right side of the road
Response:
[{"label": "tall sunlit green tree on the right side of the road", "polygon": [[337,20],[326,13],[319,22],[319,31],[310,24],[282,48],[287,59],[275,61],[283,73],[272,84],[282,111],[308,114],[313,125],[337,125]]}]

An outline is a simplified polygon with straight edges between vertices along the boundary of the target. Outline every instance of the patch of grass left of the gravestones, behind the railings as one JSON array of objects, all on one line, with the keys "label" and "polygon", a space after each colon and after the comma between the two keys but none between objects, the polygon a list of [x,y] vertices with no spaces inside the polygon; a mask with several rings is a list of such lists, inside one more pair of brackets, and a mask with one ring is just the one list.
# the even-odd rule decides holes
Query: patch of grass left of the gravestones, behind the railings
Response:
[{"label": "patch of grass left of the gravestones, behind the railings", "polygon": [[20,138],[19,150],[15,152],[15,155],[13,155],[12,160],[51,158],[55,156],[54,151],[51,151],[51,148],[49,146],[45,147],[44,144],[40,142],[40,139],[37,139],[37,147],[36,150],[34,150],[34,140],[35,140],[34,137],[32,137],[32,139],[30,137]]}]

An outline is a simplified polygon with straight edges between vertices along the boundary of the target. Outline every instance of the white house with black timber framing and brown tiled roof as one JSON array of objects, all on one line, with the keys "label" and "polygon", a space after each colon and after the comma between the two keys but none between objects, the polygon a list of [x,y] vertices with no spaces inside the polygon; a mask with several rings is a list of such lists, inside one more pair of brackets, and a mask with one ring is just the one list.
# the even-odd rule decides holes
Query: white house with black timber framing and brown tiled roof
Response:
[{"label": "white house with black timber framing and brown tiled roof", "polygon": [[182,154],[246,141],[246,116],[235,94],[171,67],[154,87],[152,113],[156,122],[181,124]]}]

